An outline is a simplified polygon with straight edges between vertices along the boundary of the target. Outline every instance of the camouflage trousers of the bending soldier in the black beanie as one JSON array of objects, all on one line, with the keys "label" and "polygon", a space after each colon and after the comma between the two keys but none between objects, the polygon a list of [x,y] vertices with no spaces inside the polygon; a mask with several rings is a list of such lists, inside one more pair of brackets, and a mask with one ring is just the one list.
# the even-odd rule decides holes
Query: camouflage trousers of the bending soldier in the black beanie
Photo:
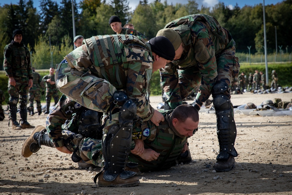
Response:
[{"label": "camouflage trousers of the bending soldier in the black beanie", "polygon": [[60,63],[55,74],[56,87],[67,97],[91,110],[108,113],[117,89],[107,80],[90,74],[88,69],[77,70]]}]

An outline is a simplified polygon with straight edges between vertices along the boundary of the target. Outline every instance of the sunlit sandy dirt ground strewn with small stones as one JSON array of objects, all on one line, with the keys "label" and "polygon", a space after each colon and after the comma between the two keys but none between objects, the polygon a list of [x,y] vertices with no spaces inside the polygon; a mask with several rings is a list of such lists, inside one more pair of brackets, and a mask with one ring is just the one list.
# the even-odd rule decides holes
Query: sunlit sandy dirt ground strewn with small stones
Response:
[{"label": "sunlit sandy dirt ground strewn with small stones", "polygon": [[[292,94],[232,95],[232,103],[281,98]],[[161,96],[151,96],[156,108]],[[18,118],[20,116],[18,115]],[[234,115],[239,156],[230,172],[212,173],[218,150],[215,114],[200,113],[199,131],[189,139],[193,162],[169,170],[142,173],[137,187],[95,187],[99,169],[79,169],[66,155],[44,146],[29,158],[20,155],[32,129],[13,131],[8,115],[0,122],[0,194],[289,194],[292,185],[292,116]],[[45,125],[46,115],[28,116],[32,125]],[[211,166],[210,166],[211,165]],[[143,178],[142,180],[142,177]]]}]

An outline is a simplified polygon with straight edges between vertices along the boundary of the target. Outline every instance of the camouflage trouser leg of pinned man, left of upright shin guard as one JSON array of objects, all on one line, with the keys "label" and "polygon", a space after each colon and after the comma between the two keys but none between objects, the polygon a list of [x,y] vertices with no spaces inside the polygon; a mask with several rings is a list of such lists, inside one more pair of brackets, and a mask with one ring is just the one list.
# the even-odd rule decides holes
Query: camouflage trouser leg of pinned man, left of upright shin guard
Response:
[{"label": "camouflage trouser leg of pinned man, left of upright shin guard", "polygon": [[70,144],[74,149],[79,147],[76,152],[86,163],[102,167],[102,142],[101,140],[85,138],[81,134],[71,131],[62,131],[63,139],[71,140]]}]

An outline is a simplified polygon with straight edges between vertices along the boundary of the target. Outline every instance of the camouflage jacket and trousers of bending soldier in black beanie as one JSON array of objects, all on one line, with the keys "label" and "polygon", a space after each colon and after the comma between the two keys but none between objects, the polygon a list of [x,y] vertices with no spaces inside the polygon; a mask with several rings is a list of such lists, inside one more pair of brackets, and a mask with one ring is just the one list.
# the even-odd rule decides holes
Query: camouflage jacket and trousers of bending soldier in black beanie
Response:
[{"label": "camouflage jacket and trousers of bending soldier in black beanie", "polygon": [[86,108],[108,113],[114,92],[126,90],[136,99],[137,115],[144,120],[152,117],[154,108],[145,98],[152,76],[152,53],[143,39],[131,35],[91,37],[65,59],[55,75],[63,94]]}]

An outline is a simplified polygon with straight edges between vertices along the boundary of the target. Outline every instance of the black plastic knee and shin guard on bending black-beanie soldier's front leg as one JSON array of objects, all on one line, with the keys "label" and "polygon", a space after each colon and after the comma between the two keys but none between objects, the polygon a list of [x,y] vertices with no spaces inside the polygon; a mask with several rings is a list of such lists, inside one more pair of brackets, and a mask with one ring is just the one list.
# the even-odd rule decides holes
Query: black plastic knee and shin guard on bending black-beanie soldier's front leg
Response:
[{"label": "black plastic knee and shin guard on bending black-beanie soldier's front leg", "polygon": [[[114,124],[109,128],[102,144],[105,169],[101,181],[105,180],[112,183],[118,175],[120,179],[124,180],[137,174],[136,172],[124,170],[131,150],[133,118],[136,115],[136,111],[136,104],[131,99],[127,100],[119,113],[119,126]],[[120,179],[117,178],[117,180]]]}]

